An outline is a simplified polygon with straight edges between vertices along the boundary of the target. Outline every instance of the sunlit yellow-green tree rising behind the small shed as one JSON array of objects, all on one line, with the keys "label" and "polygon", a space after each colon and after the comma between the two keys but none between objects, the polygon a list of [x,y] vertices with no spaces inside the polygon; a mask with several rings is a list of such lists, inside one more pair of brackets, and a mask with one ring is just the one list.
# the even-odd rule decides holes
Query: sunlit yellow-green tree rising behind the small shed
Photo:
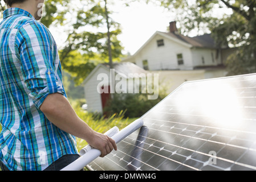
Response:
[{"label": "sunlit yellow-green tree rising behind the small shed", "polygon": [[[108,35],[104,1],[80,2],[80,9],[76,11],[76,20],[72,24],[66,46],[60,51],[63,68],[73,76],[76,75],[76,84],[80,84],[96,64],[108,63],[108,45],[111,46],[113,61],[120,60],[123,50],[117,39],[117,35],[121,33],[120,24],[110,17],[108,17]],[[74,53],[78,54],[78,52],[83,55],[83,60],[75,59]],[[71,64],[74,61],[81,64]]]}]

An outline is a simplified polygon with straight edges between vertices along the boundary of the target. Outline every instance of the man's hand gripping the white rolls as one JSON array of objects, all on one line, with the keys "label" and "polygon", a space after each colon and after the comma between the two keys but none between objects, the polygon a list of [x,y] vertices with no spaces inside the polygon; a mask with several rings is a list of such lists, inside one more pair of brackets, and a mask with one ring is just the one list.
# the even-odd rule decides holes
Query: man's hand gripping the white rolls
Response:
[{"label": "man's hand gripping the white rolls", "polygon": [[87,139],[87,142],[92,147],[101,151],[101,158],[103,158],[105,155],[108,155],[113,149],[117,150],[115,140],[101,133],[94,132],[91,139]]}]

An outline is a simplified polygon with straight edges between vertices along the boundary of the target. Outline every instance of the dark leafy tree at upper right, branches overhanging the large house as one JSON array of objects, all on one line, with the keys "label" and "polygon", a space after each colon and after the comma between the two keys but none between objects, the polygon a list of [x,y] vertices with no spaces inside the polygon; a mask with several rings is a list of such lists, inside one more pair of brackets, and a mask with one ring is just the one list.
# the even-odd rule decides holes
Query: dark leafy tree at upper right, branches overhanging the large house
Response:
[{"label": "dark leafy tree at upper right, branches overhanging the large house", "polygon": [[[135,0],[129,2],[132,1]],[[174,11],[183,35],[212,32],[218,46],[229,44],[236,47],[226,61],[228,75],[256,72],[256,0],[140,1],[156,3]],[[231,13],[216,15],[223,9],[231,10]]]}]

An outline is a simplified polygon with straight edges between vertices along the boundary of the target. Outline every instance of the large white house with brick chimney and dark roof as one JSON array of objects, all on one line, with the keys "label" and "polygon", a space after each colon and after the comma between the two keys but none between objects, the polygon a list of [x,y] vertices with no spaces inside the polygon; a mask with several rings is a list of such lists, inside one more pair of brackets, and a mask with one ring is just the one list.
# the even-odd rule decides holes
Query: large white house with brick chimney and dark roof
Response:
[{"label": "large white house with brick chimney and dark roof", "polygon": [[218,47],[211,34],[192,38],[180,35],[176,22],[170,22],[169,29],[170,32],[156,31],[134,55],[123,61],[149,71],[193,70],[223,65],[230,53],[228,47]]}]

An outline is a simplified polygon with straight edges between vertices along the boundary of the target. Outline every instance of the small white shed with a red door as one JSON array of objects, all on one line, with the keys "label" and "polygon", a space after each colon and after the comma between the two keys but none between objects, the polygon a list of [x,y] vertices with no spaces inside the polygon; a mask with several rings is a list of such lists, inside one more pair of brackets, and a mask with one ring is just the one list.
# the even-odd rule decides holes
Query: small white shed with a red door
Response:
[{"label": "small white shed with a red door", "polygon": [[113,69],[108,64],[98,64],[84,80],[84,92],[88,111],[103,113],[112,93],[136,93],[148,72],[133,63],[115,63]]}]

